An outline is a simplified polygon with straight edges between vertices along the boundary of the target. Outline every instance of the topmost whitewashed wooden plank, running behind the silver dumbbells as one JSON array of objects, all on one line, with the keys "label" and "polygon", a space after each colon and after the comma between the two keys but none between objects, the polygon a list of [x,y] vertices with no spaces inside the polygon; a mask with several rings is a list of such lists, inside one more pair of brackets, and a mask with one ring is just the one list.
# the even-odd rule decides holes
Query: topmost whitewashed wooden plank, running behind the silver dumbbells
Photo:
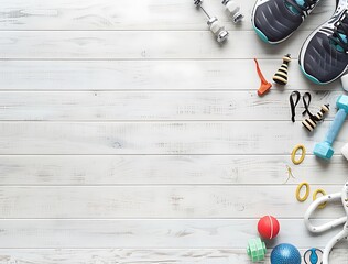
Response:
[{"label": "topmost whitewashed wooden plank, running behind the silver dumbbells", "polygon": [[[118,0],[119,2],[119,0]],[[242,1],[240,4],[249,20],[253,1]],[[165,30],[192,31],[206,30],[203,14],[189,7],[186,0],[175,0],[170,3],[160,0],[121,1],[113,4],[109,0],[40,0],[3,1],[1,30]],[[251,30],[250,23],[233,26],[221,12],[221,7],[213,0],[206,1],[206,7],[214,14],[219,14],[229,30]],[[314,11],[318,20],[325,20],[334,11],[335,3],[323,1]],[[44,21],[45,23],[42,23]],[[308,20],[302,29],[314,30],[318,25],[315,19]]]}]

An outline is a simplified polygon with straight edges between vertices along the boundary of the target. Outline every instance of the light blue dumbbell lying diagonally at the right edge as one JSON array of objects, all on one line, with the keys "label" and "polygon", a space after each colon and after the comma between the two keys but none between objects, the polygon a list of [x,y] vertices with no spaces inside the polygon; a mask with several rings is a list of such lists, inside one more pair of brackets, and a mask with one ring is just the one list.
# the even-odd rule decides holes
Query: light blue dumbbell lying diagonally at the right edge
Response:
[{"label": "light blue dumbbell lying diagonally at the right edge", "polygon": [[313,151],[314,155],[325,160],[329,160],[334,155],[335,151],[333,147],[333,143],[348,114],[348,96],[338,97],[336,106],[339,110],[336,113],[336,117],[326,134],[325,140],[316,144]]}]

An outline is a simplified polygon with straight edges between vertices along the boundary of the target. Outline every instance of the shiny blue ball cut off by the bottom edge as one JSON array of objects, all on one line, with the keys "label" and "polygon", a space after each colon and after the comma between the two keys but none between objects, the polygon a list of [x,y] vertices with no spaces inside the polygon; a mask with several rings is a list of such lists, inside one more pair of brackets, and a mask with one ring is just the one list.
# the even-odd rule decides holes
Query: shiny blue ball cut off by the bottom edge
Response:
[{"label": "shiny blue ball cut off by the bottom edge", "polygon": [[301,264],[301,254],[292,244],[279,244],[271,253],[271,264]]}]

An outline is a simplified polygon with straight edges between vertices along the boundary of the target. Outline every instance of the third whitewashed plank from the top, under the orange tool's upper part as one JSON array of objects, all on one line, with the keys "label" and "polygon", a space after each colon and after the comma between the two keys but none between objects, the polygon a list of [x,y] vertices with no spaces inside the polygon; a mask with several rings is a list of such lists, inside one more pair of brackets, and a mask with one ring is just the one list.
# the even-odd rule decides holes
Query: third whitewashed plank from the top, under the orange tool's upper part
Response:
[{"label": "third whitewashed plank from the top, under the orange tool's upper part", "polygon": [[[231,68],[231,64],[236,67]],[[260,59],[264,76],[274,74],[279,59]],[[142,59],[142,61],[0,61],[0,90],[251,90],[260,86],[251,59]],[[248,69],[247,78],[243,76]],[[315,86],[303,78],[296,62],[286,90],[340,91],[340,84]],[[275,91],[284,91],[275,87]],[[204,92],[202,95],[205,95]],[[254,95],[254,94],[253,94]],[[286,94],[287,95],[287,94]],[[231,98],[232,99],[232,98]],[[268,100],[265,98],[265,100]],[[283,98],[286,101],[286,97]],[[254,114],[257,114],[254,112]]]}]

